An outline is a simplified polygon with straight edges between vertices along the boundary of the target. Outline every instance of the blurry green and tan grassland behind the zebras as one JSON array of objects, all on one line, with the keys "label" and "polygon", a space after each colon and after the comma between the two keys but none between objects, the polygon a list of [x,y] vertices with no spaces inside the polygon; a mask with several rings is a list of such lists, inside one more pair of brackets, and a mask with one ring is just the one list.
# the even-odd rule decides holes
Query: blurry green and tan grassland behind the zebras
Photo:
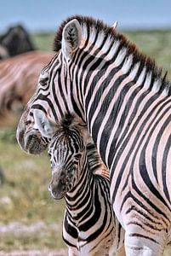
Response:
[{"label": "blurry green and tan grassland behind the zebras", "polygon": [[[168,70],[171,80],[171,31],[124,32],[145,54]],[[34,34],[37,49],[51,50],[54,33]],[[49,160],[46,153],[21,151],[15,129],[0,129],[0,255],[66,255],[61,239],[64,202],[48,193]],[[171,255],[167,251],[166,255]]]}]

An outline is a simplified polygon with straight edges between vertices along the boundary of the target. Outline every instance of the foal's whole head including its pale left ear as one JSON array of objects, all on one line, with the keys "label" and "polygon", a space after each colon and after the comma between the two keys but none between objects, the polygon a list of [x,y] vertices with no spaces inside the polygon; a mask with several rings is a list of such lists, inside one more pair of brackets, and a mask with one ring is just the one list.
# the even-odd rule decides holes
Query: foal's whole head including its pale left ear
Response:
[{"label": "foal's whole head including its pale left ear", "polygon": [[51,137],[48,154],[52,178],[48,189],[54,199],[61,199],[77,185],[85,160],[88,132],[71,114],[60,124],[50,122],[40,110],[35,110],[34,116],[43,137]]}]

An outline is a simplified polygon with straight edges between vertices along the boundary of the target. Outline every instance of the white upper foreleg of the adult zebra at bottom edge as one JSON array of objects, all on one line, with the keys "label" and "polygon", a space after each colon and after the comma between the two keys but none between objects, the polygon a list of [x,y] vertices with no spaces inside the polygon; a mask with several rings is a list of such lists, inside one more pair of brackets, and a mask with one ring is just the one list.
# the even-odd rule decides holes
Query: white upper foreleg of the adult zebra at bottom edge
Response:
[{"label": "white upper foreleg of the adult zebra at bottom edge", "polygon": [[127,256],[161,256],[163,246],[140,236],[125,233],[125,251]]}]

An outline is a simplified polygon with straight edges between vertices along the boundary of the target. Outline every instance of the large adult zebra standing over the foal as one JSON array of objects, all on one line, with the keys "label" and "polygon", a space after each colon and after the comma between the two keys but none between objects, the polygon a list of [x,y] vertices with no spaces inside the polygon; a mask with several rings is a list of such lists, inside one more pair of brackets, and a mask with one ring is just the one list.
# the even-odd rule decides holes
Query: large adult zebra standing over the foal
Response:
[{"label": "large adult zebra standing over the foal", "polygon": [[39,154],[47,147],[35,108],[56,122],[76,113],[110,169],[127,255],[161,255],[171,241],[170,84],[150,58],[100,20],[65,20],[54,49],[20,119],[21,148]]}]

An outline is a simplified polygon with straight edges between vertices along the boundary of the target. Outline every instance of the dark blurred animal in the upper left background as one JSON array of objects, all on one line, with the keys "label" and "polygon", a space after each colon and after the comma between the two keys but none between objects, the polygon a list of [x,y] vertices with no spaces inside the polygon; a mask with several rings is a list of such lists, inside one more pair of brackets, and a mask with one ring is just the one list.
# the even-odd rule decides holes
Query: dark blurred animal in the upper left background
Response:
[{"label": "dark blurred animal in the upper left background", "polygon": [[31,37],[26,29],[21,26],[11,26],[3,35],[0,35],[0,59],[34,50]]}]

